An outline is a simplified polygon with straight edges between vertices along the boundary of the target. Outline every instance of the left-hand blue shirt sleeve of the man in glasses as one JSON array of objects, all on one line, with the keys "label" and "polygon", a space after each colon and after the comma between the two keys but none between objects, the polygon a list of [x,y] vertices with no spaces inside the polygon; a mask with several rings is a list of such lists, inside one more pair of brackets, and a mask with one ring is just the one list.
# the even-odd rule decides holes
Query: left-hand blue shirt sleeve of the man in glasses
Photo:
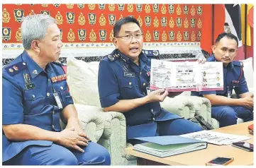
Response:
[{"label": "left-hand blue shirt sleeve of the man in glasses", "polygon": [[101,107],[110,107],[119,100],[119,87],[116,72],[110,62],[102,60],[99,64],[98,88]]}]

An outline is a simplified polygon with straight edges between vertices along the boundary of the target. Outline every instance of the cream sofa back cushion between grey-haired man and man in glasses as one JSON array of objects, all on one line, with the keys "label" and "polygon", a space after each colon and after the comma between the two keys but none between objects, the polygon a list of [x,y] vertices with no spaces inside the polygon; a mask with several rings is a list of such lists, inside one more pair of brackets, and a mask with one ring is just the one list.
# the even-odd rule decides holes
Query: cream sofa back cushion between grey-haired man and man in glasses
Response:
[{"label": "cream sofa back cushion between grey-haired man and man in glasses", "polygon": [[87,62],[68,58],[67,83],[75,103],[101,107],[96,66],[91,68]]}]

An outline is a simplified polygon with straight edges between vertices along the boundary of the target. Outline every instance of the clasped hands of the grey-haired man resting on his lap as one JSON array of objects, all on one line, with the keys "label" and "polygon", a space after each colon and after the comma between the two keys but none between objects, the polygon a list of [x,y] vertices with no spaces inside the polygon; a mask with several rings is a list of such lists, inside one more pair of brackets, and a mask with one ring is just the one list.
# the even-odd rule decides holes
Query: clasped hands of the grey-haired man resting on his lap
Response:
[{"label": "clasped hands of the grey-haired man resting on his lap", "polygon": [[57,144],[63,145],[67,148],[73,148],[75,150],[78,150],[79,152],[84,152],[84,150],[82,150],[79,145],[88,145],[88,137],[84,133],[74,131],[74,127],[65,128],[65,130],[61,131],[57,135]]}]

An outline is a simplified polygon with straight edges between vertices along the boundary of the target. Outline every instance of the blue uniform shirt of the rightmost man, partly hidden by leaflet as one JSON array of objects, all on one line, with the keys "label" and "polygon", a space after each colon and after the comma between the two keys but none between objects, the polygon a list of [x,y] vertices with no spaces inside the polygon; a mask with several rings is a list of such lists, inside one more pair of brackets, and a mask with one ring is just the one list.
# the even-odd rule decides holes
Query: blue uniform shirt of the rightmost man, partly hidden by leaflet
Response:
[{"label": "blue uniform shirt of the rightmost man, partly hidden by leaflet", "polygon": [[[214,55],[209,56],[206,61],[217,61]],[[203,92],[191,92],[192,96],[200,96],[203,95],[221,95],[228,97],[232,94],[233,89],[235,90],[235,94],[240,95],[245,92],[249,92],[247,88],[247,84],[245,81],[245,76],[243,73],[243,63],[240,61],[232,61],[228,64],[228,66],[223,66],[223,90],[217,91],[203,91]]]}]

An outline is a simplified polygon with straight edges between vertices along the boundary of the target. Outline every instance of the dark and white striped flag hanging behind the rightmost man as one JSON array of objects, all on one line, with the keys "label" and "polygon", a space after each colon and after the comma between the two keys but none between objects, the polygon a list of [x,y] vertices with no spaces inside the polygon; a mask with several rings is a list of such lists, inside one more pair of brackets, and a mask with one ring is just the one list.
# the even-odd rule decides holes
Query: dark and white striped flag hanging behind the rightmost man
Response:
[{"label": "dark and white striped flag hanging behind the rightmost man", "polygon": [[238,37],[238,47],[242,46],[241,15],[239,4],[225,4],[225,32]]}]

